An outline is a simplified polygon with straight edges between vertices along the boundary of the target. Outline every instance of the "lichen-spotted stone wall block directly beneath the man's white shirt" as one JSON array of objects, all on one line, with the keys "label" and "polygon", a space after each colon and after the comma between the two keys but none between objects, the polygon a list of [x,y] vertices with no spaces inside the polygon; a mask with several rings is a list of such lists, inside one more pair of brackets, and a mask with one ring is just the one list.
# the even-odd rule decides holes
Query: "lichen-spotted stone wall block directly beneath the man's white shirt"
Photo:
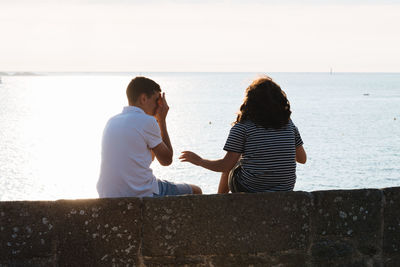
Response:
[{"label": "lichen-spotted stone wall block directly beneath the man's white shirt", "polygon": [[60,265],[138,265],[140,199],[59,201],[57,205]]}]

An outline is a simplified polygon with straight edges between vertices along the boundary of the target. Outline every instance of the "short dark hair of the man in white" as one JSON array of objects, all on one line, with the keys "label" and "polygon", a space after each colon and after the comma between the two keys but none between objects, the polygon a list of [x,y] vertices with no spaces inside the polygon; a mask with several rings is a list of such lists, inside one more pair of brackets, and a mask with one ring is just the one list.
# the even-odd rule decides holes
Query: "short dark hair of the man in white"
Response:
[{"label": "short dark hair of the man in white", "polygon": [[132,79],[126,88],[126,96],[129,102],[136,102],[141,94],[151,97],[154,93],[161,92],[160,85],[146,77],[136,77]]}]

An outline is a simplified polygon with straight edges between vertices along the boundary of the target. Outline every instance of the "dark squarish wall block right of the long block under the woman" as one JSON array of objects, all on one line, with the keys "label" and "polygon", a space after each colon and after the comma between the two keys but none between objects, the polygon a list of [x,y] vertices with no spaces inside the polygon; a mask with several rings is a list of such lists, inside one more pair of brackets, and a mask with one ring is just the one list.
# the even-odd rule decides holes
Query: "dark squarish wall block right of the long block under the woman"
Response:
[{"label": "dark squarish wall block right of the long block under the woman", "polygon": [[342,266],[378,264],[382,254],[382,191],[312,194],[313,262]]}]

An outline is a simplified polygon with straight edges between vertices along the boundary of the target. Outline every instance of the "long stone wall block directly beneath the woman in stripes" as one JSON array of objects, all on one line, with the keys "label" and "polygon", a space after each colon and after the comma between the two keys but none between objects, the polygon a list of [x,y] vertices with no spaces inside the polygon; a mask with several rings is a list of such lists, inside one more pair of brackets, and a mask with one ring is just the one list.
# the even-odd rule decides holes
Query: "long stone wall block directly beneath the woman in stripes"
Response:
[{"label": "long stone wall block directly beneath the woman in stripes", "polygon": [[145,199],[143,255],[304,255],[310,209],[303,192]]}]

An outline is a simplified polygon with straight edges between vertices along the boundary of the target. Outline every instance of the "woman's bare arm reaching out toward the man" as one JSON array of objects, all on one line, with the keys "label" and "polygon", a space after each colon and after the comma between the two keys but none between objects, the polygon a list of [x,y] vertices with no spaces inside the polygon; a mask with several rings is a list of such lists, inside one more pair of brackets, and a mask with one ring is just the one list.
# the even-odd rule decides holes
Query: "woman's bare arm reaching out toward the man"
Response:
[{"label": "woman's bare arm reaching out toward the man", "polygon": [[217,160],[203,159],[191,151],[183,151],[179,159],[182,162],[190,162],[215,172],[229,172],[240,158],[240,153],[226,152],[225,157]]}]

